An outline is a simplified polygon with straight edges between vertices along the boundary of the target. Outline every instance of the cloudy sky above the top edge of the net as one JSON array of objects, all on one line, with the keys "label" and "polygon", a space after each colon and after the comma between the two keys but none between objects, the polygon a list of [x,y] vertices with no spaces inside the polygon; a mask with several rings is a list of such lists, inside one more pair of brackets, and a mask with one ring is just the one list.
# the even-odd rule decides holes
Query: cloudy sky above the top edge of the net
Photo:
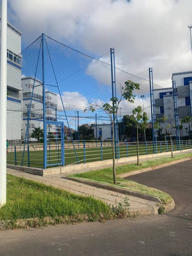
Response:
[{"label": "cloudy sky above the top edge of the net", "polygon": [[191,13],[191,0],[8,0],[22,50],[42,33],[94,58],[114,47],[117,68],[148,80],[152,67],[162,87],[192,70]]}]

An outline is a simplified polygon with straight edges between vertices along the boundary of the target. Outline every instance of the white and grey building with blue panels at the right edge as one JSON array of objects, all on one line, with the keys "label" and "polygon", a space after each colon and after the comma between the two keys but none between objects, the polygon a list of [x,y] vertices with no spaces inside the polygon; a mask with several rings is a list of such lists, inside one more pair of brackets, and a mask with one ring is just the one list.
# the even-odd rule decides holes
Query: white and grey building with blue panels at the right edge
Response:
[{"label": "white and grey building with blue panels at the right edge", "polygon": [[[174,83],[174,97],[172,87],[154,90],[155,117],[156,119],[167,117],[167,123],[171,127],[174,126],[177,115],[179,125],[182,118],[192,116],[192,71],[173,73],[172,82]],[[166,124],[161,123],[160,126],[165,129]],[[186,127],[188,124],[183,124],[184,136],[188,135],[184,132]],[[173,136],[176,135],[175,128],[171,128],[170,131]]]}]

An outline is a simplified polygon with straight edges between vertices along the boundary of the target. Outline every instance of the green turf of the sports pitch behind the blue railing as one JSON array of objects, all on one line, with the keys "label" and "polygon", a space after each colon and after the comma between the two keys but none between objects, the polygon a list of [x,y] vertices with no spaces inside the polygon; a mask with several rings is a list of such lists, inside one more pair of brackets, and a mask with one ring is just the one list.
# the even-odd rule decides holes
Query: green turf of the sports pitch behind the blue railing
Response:
[{"label": "green turf of the sports pitch behind the blue railing", "polygon": [[[99,160],[107,160],[107,159],[112,159],[112,147],[110,146],[104,146],[102,148],[102,156],[101,156],[101,148],[100,144],[98,143],[98,147],[92,147],[91,144],[88,144],[85,149],[85,158],[86,162],[94,162],[94,161],[99,161]],[[188,145],[189,146],[189,145]],[[70,145],[72,147],[72,145]],[[185,149],[185,148],[184,148]],[[177,150],[176,145],[174,145],[174,150]],[[9,149],[9,154],[7,155],[7,163],[8,164],[15,164],[15,154],[14,154],[14,147]],[[158,144],[157,146],[157,152],[166,152],[167,148],[166,145],[160,146]],[[168,151],[170,151],[170,145],[168,146]],[[30,156],[30,166],[31,167],[38,167],[38,168],[43,168],[43,151],[42,150],[33,150],[29,152]],[[76,145],[76,153],[78,156],[78,160],[80,163],[84,162],[84,149],[83,148],[78,148]],[[148,144],[147,146],[147,154],[152,154],[153,153],[153,146],[152,144]],[[136,156],[136,145],[128,145],[127,146],[119,146],[119,154],[120,158],[122,157],[127,157],[127,156]],[[140,145],[139,146],[139,154],[144,155],[146,154],[146,146],[145,145]],[[21,165],[22,161],[22,151],[17,151],[16,152],[16,160],[17,160],[17,165]],[[48,151],[48,164],[57,164],[58,162],[58,150],[50,150]],[[66,148],[65,149],[65,165],[68,164],[76,164],[77,159],[76,155],[74,152],[74,149],[72,148]],[[24,158],[23,158],[23,166],[28,166],[28,154],[27,151],[24,153]]]}]

